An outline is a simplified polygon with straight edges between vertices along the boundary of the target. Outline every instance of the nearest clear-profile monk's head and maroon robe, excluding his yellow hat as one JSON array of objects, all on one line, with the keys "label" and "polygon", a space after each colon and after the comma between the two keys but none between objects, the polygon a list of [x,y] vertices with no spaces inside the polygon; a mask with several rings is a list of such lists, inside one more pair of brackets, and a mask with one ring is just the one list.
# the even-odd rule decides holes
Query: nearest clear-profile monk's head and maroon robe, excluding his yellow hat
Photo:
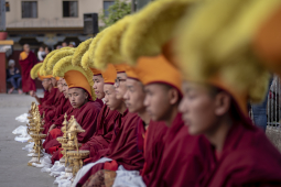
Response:
[{"label": "nearest clear-profile monk's head and maroon robe, excluding his yellow hat", "polygon": [[246,117],[233,96],[218,87],[184,82],[180,110],[191,134],[205,134],[212,167],[198,186],[280,186],[281,155]]}]

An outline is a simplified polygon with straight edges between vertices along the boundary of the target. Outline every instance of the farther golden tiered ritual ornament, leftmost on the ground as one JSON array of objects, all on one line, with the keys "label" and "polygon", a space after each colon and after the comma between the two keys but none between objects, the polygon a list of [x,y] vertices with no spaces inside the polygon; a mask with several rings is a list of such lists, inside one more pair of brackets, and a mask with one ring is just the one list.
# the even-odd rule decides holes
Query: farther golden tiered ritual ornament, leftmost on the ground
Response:
[{"label": "farther golden tiered ritual ornament, leftmost on the ground", "polygon": [[43,156],[43,148],[42,148],[42,140],[46,138],[46,134],[42,134],[44,128],[42,128],[42,119],[39,112],[39,107],[35,102],[32,102],[31,110],[29,111],[29,124],[28,125],[28,133],[32,138],[29,142],[34,142],[32,153],[32,158],[29,162],[29,166],[32,166],[32,163],[40,164],[40,157]]}]

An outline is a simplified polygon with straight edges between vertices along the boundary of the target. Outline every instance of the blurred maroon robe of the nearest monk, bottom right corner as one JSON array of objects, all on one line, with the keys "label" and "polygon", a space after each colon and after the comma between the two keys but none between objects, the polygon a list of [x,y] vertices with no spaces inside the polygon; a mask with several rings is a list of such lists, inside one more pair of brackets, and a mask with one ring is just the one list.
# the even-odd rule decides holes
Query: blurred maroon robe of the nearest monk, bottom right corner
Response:
[{"label": "blurred maroon robe of the nearest monk, bottom right corner", "polygon": [[[210,167],[206,167],[202,187],[275,187],[281,186],[281,154],[264,132],[252,125],[233,101],[234,124],[218,158],[213,148]],[[217,154],[218,155],[218,154]]]}]

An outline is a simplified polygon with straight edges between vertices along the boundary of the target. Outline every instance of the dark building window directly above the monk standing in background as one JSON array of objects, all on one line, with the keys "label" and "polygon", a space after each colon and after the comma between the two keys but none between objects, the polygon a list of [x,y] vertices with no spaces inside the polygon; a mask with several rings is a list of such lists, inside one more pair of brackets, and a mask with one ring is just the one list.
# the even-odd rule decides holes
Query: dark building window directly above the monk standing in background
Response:
[{"label": "dark building window directly above the monk standing in background", "polygon": [[22,18],[37,18],[37,1],[21,2]]}]

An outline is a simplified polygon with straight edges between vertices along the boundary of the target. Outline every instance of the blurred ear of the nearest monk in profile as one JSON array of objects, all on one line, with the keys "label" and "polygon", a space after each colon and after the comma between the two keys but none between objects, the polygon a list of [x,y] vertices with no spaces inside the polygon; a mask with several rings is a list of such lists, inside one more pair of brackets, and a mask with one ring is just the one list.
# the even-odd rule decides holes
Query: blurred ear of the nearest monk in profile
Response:
[{"label": "blurred ear of the nearest monk in profile", "polygon": [[231,97],[227,92],[219,92],[215,97],[215,114],[224,116],[226,114],[231,105]]}]

